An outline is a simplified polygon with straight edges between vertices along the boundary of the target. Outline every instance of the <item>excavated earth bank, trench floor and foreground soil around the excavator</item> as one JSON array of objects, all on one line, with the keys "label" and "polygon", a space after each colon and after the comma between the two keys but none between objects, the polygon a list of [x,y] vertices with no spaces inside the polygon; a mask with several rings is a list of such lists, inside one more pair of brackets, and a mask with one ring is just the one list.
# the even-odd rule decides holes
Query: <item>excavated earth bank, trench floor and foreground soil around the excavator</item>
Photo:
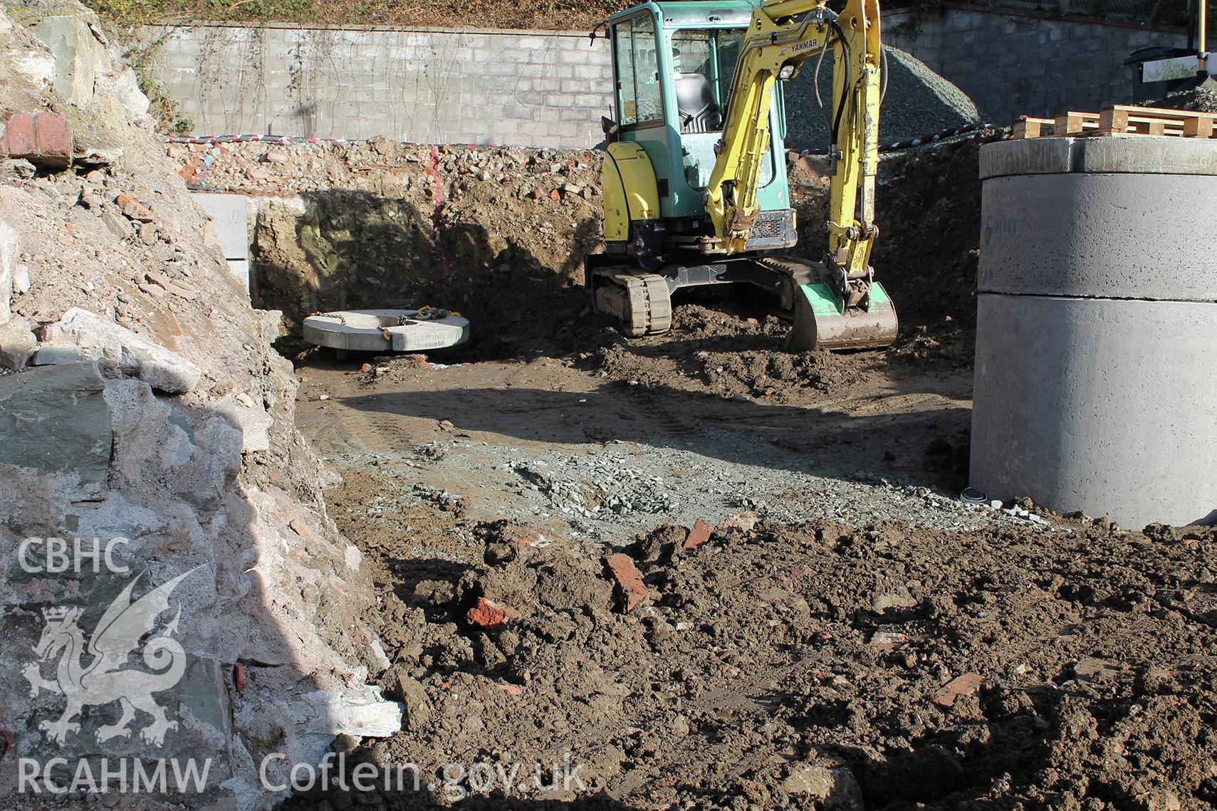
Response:
[{"label": "excavated earth bank, trench floor and foreground soil around the excavator", "polygon": [[[353,178],[376,175],[357,150],[388,160],[348,149]],[[376,588],[372,677],[405,706],[400,733],[335,748],[347,778],[420,781],[288,807],[1217,800],[1212,531],[957,498],[975,150],[885,161],[876,267],[905,331],[880,352],[785,353],[763,302],[718,295],[621,340],[576,286],[594,164],[562,153],[442,152],[439,222],[460,226],[433,230],[436,164],[409,150],[382,170],[409,208],[360,222],[358,196],[315,190],[304,218],[259,218],[260,261],[303,267],[263,234],[312,240],[281,275],[297,298],[268,304],[426,298],[483,330],[430,357],[296,358],[298,425],[342,480],[329,513]],[[825,180],[795,178],[809,228]],[[382,284],[327,276],[331,255]]]}]

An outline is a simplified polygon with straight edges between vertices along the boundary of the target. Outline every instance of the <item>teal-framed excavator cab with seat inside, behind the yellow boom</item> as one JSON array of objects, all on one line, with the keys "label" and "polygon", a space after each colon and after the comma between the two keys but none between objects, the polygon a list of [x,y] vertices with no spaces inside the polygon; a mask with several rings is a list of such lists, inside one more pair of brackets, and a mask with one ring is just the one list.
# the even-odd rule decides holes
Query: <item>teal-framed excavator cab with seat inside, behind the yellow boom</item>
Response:
[{"label": "teal-framed excavator cab with seat inside, behind the yellow boom", "polygon": [[[699,244],[708,245],[699,237],[713,237],[706,188],[753,7],[746,0],[647,2],[608,19],[616,90],[615,114],[606,119],[615,141],[608,145],[608,160],[616,166],[645,160],[655,175],[654,198],[649,184],[645,190],[632,190],[634,197],[641,194],[646,200],[623,200],[621,186],[612,184],[613,198],[605,200],[608,255],[663,258],[666,248],[684,245],[699,252]],[[762,212],[750,239],[750,248],[757,251],[797,241],[780,93],[769,114],[774,138],[757,192]]]}]

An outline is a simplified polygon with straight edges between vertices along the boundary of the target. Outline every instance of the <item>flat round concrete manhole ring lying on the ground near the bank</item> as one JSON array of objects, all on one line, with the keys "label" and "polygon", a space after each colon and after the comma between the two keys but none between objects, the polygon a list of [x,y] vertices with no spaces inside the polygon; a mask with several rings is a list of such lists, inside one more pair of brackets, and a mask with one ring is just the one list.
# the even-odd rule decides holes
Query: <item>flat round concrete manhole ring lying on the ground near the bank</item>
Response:
[{"label": "flat round concrete manhole ring lying on the ground near the bank", "polygon": [[[417,309],[342,309],[304,319],[304,340],[352,352],[422,352],[469,340],[469,319],[421,318]],[[426,315],[426,314],[425,314]]]}]

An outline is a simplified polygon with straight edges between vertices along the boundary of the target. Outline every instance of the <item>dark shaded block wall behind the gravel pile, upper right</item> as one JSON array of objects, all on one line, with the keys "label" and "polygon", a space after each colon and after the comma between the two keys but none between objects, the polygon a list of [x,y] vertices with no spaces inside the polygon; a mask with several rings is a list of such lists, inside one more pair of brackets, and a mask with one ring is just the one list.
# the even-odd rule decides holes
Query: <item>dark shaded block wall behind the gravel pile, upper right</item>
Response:
[{"label": "dark shaded block wall behind the gravel pile, upper right", "polygon": [[1183,46],[1187,33],[1134,23],[943,6],[884,15],[884,39],[950,79],[987,121],[1098,111],[1134,97],[1128,56],[1148,45]]}]

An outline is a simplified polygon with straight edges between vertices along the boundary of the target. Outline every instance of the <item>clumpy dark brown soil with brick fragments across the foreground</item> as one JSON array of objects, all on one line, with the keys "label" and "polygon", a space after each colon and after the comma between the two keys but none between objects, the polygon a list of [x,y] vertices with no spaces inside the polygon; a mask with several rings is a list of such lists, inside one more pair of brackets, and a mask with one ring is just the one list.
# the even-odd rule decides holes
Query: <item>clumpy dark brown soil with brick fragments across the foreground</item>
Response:
[{"label": "clumpy dark brown soil with brick fragments across the foreground", "polygon": [[[601,548],[521,546],[450,515],[371,542],[344,507],[335,499],[340,525],[374,543],[398,661],[381,683],[410,712],[406,731],[350,762],[417,764],[441,794],[448,764],[527,764],[529,784],[534,761],[583,764],[585,790],[500,785],[461,807],[1217,801],[1211,530],[761,524],[686,552],[686,528],[667,526],[628,548],[647,598],[626,614]],[[473,547],[459,539],[470,530]],[[419,544],[432,564],[396,563]],[[469,625],[479,597],[520,619]],[[935,701],[965,675],[974,694]],[[826,800],[808,792],[824,782]],[[320,801],[350,798],[288,807]],[[426,790],[355,801],[434,804]]]}]

